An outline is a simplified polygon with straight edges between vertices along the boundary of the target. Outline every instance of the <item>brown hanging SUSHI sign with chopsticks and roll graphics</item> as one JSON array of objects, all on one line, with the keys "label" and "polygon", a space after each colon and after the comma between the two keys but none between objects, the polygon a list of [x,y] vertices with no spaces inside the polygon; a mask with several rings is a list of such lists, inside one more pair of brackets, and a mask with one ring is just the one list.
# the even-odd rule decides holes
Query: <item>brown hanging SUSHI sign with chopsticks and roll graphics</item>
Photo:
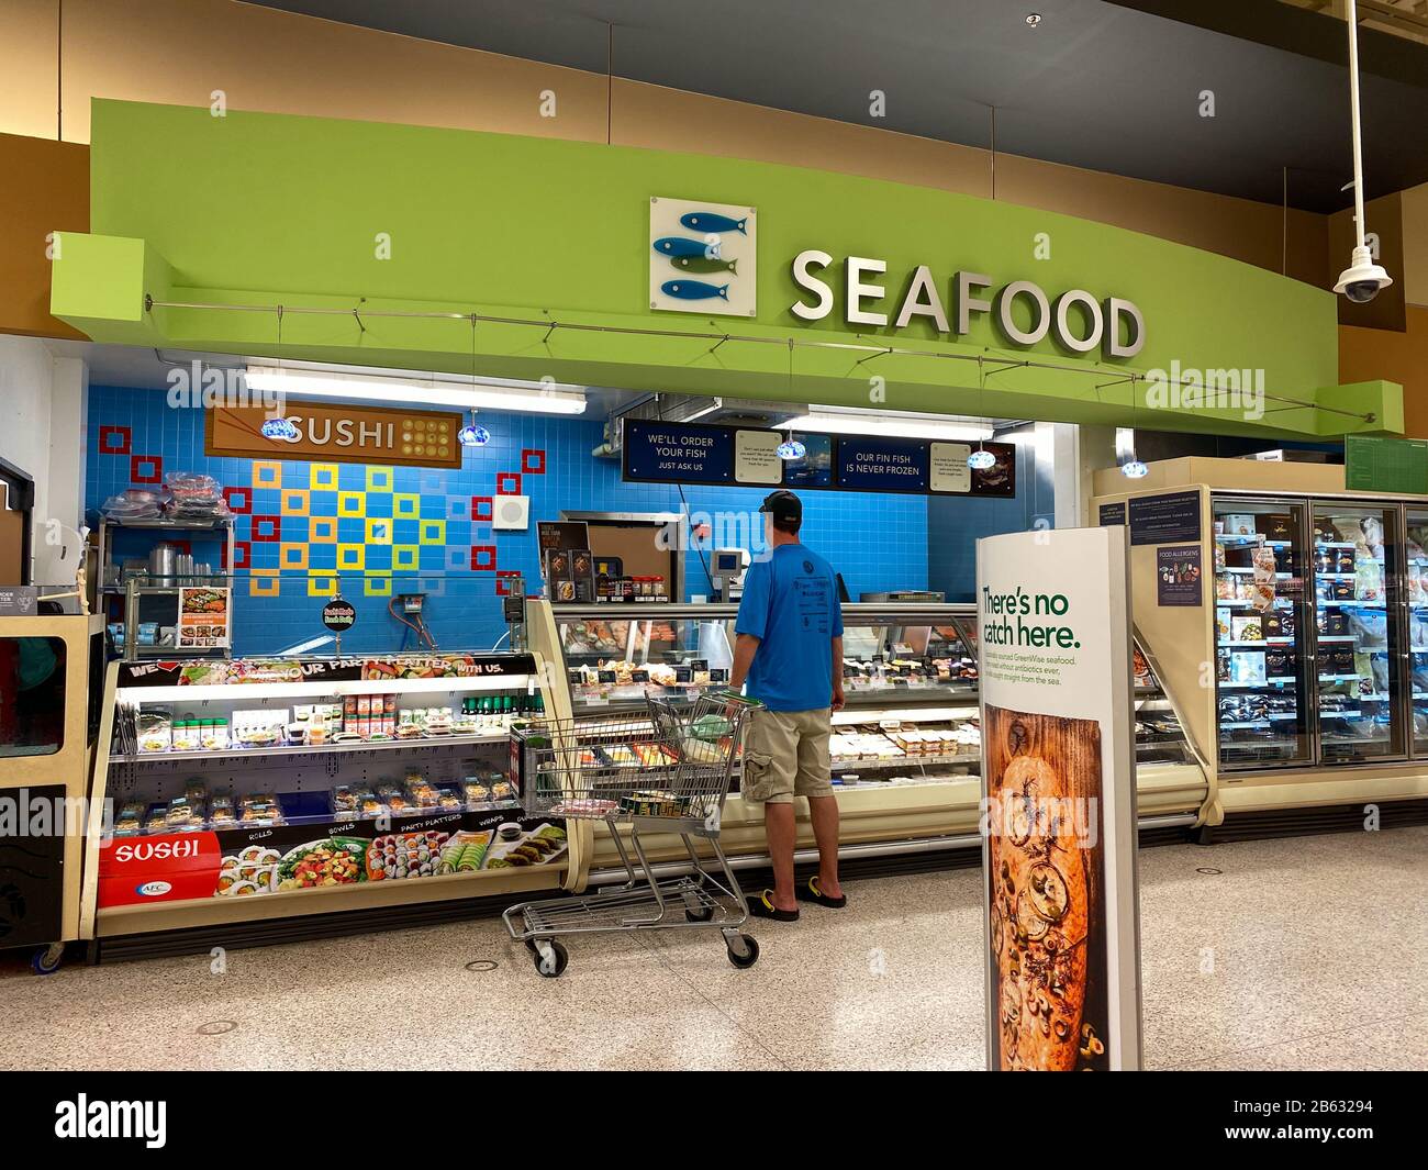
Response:
[{"label": "brown hanging SUSHI sign with chopsticks and roll graphics", "polygon": [[461,466],[457,431],[463,416],[451,411],[288,401],[284,417],[293,431],[287,439],[263,433],[270,416],[261,406],[216,406],[204,414],[204,453],[211,456]]}]

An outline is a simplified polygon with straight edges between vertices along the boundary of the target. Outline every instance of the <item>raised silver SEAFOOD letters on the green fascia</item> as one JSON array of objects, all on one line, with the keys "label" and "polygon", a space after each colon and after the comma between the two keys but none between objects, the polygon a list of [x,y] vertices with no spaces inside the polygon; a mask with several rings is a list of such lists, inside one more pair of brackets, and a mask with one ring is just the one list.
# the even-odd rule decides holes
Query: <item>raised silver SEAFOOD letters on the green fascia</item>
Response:
[{"label": "raised silver SEAFOOD letters on the green fascia", "polygon": [[[814,296],[813,304],[798,300],[790,306],[795,317],[817,321],[833,311],[833,286],[815,274],[831,263],[833,256],[817,249],[807,249],[794,257],[794,284]],[[870,256],[848,256],[844,260],[843,319],[850,326],[888,324],[887,309],[891,306],[880,307],[887,289],[877,281],[887,270],[885,260]],[[914,317],[921,317],[938,333],[961,337],[971,331],[974,313],[988,313],[1000,333],[1014,346],[1035,346],[1050,333],[1057,344],[1072,354],[1101,349],[1107,357],[1135,357],[1145,344],[1145,319],[1124,297],[1101,299],[1085,289],[1068,289],[1051,300],[1032,280],[1012,280],[995,294],[984,296],[994,284],[982,273],[952,273],[948,301],[955,307],[957,319],[948,321],[931,269],[918,264],[897,306],[892,329],[905,329]]]}]

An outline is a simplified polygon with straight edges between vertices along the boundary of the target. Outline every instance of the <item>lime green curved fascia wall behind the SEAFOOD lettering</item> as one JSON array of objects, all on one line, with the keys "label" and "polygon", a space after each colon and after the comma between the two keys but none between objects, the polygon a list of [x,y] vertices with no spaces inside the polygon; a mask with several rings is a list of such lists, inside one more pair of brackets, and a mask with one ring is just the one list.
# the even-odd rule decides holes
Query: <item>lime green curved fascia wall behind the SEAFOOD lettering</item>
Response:
[{"label": "lime green curved fascia wall behind the SEAFOOD lettering", "polygon": [[[697,149],[698,143],[691,143]],[[900,296],[918,263],[932,267],[952,311],[957,269],[997,284],[1030,279],[1052,297],[1071,287],[1135,301],[1147,343],[1135,369],[1251,367],[1271,394],[1314,404],[1334,387],[1338,333],[1332,294],[1211,253],[1105,224],[922,187],[798,167],[364,121],[96,101],[91,226],[126,247],[69,247],[56,266],[57,316],[96,340],[267,353],[268,314],[156,310],[159,300],[247,304],[450,309],[593,326],[767,337],[858,340],[838,311],[793,317],[788,263],[808,247],[888,263]],[[650,196],[707,199],[758,209],[758,317],[648,310]],[[374,254],[391,234],[391,259]],[[1050,259],[1034,256],[1038,233]],[[830,270],[831,271],[831,270]],[[833,283],[838,283],[834,280]],[[361,301],[360,299],[364,299]],[[123,301],[127,309],[117,309]],[[895,297],[890,297],[890,316]],[[840,290],[841,307],[841,290]],[[1008,354],[988,317],[962,344],[935,340],[925,323],[871,330],[888,344],[941,353]],[[288,357],[467,371],[468,326],[367,317],[284,319]],[[895,341],[892,339],[897,339]],[[867,337],[864,339],[867,340]],[[1008,370],[978,390],[977,366],[697,339],[483,326],[478,366],[497,376],[708,390],[725,394],[868,403],[868,377],[887,379],[887,403],[975,414],[1130,421],[1128,386],[1105,376]],[[1010,353],[1021,357],[1020,351]],[[1051,341],[1034,354],[1078,363]],[[1122,363],[1124,364],[1124,363]],[[1110,384],[1107,384],[1110,383]],[[1100,389],[1097,389],[1100,387]],[[1342,404],[1338,393],[1335,403]],[[1258,426],[1235,413],[1171,417],[1137,411],[1140,426],[1264,430],[1285,434],[1397,430],[1398,390],[1355,387],[1355,410],[1374,423],[1312,406],[1279,410]],[[1272,406],[1272,404],[1271,404]]]}]

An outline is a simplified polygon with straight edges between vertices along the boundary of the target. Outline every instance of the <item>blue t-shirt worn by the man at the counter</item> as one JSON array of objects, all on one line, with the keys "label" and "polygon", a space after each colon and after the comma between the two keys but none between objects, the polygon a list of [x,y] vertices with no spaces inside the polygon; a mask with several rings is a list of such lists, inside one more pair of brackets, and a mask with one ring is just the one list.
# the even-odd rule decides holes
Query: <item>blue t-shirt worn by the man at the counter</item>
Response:
[{"label": "blue t-shirt worn by the man at the counter", "polygon": [[843,609],[833,567],[803,544],[780,544],[744,574],[734,631],[757,637],[745,690],[771,711],[813,711],[833,701],[833,647]]}]

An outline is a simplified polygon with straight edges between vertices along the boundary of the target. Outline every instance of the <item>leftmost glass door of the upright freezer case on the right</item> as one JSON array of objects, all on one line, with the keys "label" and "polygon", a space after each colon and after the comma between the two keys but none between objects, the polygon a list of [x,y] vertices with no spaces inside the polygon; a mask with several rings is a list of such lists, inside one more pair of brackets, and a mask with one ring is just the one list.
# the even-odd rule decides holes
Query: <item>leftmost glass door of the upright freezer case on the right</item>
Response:
[{"label": "leftmost glass door of the upright freezer case on the right", "polygon": [[1307,504],[1215,496],[1220,766],[1312,761]]}]

